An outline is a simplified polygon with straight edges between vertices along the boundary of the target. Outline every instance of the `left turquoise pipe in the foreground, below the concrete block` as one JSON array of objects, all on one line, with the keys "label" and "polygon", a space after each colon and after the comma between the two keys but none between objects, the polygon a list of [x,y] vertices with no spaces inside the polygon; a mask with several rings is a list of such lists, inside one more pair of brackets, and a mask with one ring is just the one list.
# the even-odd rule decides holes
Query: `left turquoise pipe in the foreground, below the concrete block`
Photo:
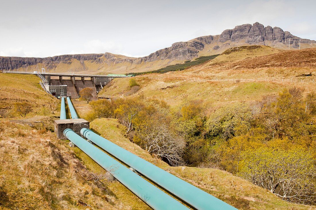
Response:
[{"label": "left turquoise pipe in the foreground, below the concrete block", "polygon": [[71,129],[64,130],[64,135],[153,209],[189,210],[189,208],[185,207],[179,201],[132,172]]}]

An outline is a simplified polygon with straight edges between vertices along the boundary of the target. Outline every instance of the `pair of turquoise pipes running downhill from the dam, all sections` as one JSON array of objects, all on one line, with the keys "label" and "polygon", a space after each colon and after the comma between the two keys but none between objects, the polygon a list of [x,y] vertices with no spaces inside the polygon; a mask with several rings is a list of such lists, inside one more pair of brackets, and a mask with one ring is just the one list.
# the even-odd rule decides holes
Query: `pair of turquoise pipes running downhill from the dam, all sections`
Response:
[{"label": "pair of turquoise pipes running downhill from the dam, all sections", "polygon": [[[62,98],[62,104],[64,104]],[[72,118],[77,117],[70,99],[68,106]],[[61,107],[61,114],[62,114]],[[73,111],[73,112],[71,112]],[[62,116],[62,115],[61,115]],[[64,115],[65,116],[65,115]],[[60,118],[61,119],[61,118]],[[66,118],[65,118],[66,119]],[[74,119],[74,118],[73,118]],[[236,208],[221,201],[220,199],[206,193],[203,190],[183,181],[182,179],[162,170],[148,161],[134,155],[133,153],[119,147],[109,140],[95,134],[93,131],[82,128],[81,135],[90,142],[104,149],[107,153],[121,160],[137,172],[143,174],[151,181],[169,191],[171,194],[184,201],[189,206],[198,210],[236,210]],[[130,169],[107,155],[101,149],[86,141],[71,129],[64,130],[64,136],[74,143],[79,149],[86,153],[91,159],[110,172],[119,182],[125,185],[135,195],[155,210],[187,210],[189,209],[167,193],[163,192],[153,184],[149,183]]]}]

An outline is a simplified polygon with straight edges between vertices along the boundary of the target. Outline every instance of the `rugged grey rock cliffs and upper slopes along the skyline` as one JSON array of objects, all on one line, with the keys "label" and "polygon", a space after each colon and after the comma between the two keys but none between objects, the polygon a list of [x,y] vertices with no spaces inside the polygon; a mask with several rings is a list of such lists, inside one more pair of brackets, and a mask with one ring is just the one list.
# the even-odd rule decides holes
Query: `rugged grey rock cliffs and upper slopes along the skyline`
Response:
[{"label": "rugged grey rock cliffs and upper slopes along the skyline", "polygon": [[[66,64],[66,67],[64,65],[63,67],[60,67],[61,69],[58,71],[85,71],[89,68],[98,68],[98,70],[101,69],[107,72],[115,72],[115,69],[120,69],[115,73],[124,73],[129,71],[139,72],[149,69],[155,70],[159,67],[174,64],[176,61],[191,60],[201,55],[201,52],[203,52],[203,55],[218,54],[227,48],[237,45],[259,44],[273,46],[276,48],[285,48],[290,44],[291,48],[298,48],[299,39],[299,37],[292,35],[288,31],[284,32],[279,27],[264,27],[262,24],[256,22],[253,25],[244,24],[236,26],[233,29],[227,29],[220,35],[209,35],[198,37],[187,42],[177,42],[172,44],[171,47],[158,50],[141,58],[126,57],[111,53],[58,55],[47,58],[0,56],[0,69],[13,70],[23,68],[24,70],[29,70],[29,66],[41,64],[41,66],[45,67],[47,70],[56,70],[58,65]],[[316,41],[301,39],[301,49],[310,47],[316,47]],[[207,51],[206,49],[211,50]],[[74,62],[76,62],[76,64],[74,64]],[[87,62],[92,63],[93,65],[88,67],[89,65]],[[155,65],[152,65],[152,63],[155,63]]]}]

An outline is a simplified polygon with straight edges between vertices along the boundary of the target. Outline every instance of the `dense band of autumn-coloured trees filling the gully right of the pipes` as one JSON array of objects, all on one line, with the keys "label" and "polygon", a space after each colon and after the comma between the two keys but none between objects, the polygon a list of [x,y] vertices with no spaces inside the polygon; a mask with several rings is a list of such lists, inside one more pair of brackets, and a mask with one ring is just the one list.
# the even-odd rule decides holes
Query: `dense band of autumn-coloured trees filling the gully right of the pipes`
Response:
[{"label": "dense band of autumn-coloured trees filling the gully right of the pipes", "polygon": [[282,90],[213,109],[202,100],[169,109],[144,96],[91,102],[95,118],[117,118],[131,141],[172,166],[213,167],[290,202],[316,204],[316,93]]}]

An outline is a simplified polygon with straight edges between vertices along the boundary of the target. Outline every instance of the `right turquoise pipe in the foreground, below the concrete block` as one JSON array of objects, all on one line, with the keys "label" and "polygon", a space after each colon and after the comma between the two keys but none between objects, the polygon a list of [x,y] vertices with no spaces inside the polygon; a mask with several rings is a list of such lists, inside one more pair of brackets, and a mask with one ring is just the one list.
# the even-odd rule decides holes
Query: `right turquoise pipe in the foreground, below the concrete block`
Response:
[{"label": "right turquoise pipe in the foreground, below the concrete block", "polygon": [[156,184],[160,185],[198,210],[236,210],[235,207],[230,206],[228,203],[225,203],[192,184],[189,184],[162,170],[154,164],[149,163],[137,155],[119,147],[109,140],[100,137],[87,128],[82,128],[81,134],[109,154],[131,166],[136,171],[140,172]]}]

